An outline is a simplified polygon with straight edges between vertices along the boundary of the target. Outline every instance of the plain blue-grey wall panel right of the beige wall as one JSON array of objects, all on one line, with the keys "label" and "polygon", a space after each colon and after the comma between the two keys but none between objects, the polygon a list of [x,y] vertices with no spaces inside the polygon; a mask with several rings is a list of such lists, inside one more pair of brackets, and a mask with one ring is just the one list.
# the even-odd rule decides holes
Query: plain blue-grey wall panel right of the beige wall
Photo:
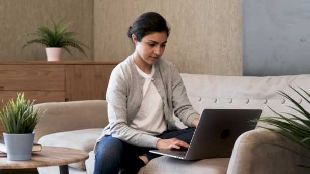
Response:
[{"label": "plain blue-grey wall panel right of the beige wall", "polygon": [[243,1],[243,75],[310,74],[310,1]]}]

